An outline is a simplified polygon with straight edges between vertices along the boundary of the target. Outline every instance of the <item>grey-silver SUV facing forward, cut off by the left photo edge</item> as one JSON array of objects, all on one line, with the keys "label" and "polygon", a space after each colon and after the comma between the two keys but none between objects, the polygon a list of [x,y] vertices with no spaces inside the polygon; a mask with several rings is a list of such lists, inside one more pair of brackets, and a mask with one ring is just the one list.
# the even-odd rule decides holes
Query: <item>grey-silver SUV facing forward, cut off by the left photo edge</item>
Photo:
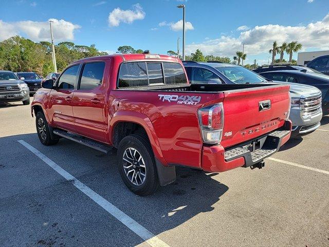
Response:
[{"label": "grey-silver SUV facing forward, cut off by the left photo edge", "polygon": [[29,88],[13,72],[0,70],[0,103],[13,101],[30,104]]}]

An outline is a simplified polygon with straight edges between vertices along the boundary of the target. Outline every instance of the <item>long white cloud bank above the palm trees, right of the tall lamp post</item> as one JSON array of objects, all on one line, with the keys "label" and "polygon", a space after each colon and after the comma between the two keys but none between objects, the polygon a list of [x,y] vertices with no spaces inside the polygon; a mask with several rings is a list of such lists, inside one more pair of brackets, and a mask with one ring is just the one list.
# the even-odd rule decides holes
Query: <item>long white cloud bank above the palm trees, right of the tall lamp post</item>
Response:
[{"label": "long white cloud bank above the palm trees, right of the tall lamp post", "polygon": [[206,55],[233,56],[235,51],[242,50],[245,44],[245,51],[249,55],[257,55],[268,52],[277,41],[291,42],[297,40],[305,48],[329,49],[329,14],[321,21],[309,23],[301,26],[264,25],[255,26],[250,30],[240,33],[235,38],[231,36],[221,36],[220,38],[207,40],[199,44],[187,45],[187,53],[200,49]]}]

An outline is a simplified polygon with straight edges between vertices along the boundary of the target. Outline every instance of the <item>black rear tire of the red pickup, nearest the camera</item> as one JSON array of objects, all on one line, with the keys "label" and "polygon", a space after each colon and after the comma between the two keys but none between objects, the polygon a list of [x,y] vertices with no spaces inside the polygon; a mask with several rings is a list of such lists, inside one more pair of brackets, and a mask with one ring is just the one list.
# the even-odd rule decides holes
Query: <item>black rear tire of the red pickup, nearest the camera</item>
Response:
[{"label": "black rear tire of the red pickup, nearest the camera", "polygon": [[[129,171],[125,169],[123,166],[125,165],[126,167],[133,165],[131,162],[126,162],[123,160],[125,151],[127,150],[136,150],[137,157],[141,156],[142,159],[140,162],[139,160],[137,161],[137,158],[135,162],[141,163],[140,166],[139,164],[136,164],[136,169],[133,169],[133,174],[136,172],[136,178],[135,181],[132,180],[128,177],[129,175],[126,174],[126,171]],[[129,154],[130,155],[130,154]],[[131,156],[131,155],[130,155]],[[155,164],[155,158],[154,158],[154,153],[152,150],[152,147],[150,145],[149,139],[145,137],[144,135],[141,134],[132,134],[129,136],[124,137],[121,142],[119,143],[118,146],[118,152],[117,152],[117,157],[118,157],[118,169],[121,175],[121,178],[124,182],[124,184],[129,188],[132,192],[134,192],[136,195],[139,196],[149,196],[155,193],[155,191],[159,188],[160,183],[158,179],[158,172],[156,169],[156,164]],[[134,156],[131,156],[134,158]],[[131,160],[133,161],[133,160]],[[135,164],[135,163],[134,163]],[[145,167],[143,168],[142,165]],[[140,171],[140,174],[138,174],[138,171]],[[139,179],[137,179],[137,174],[141,175],[143,174],[142,172],[145,172],[145,176],[142,177],[144,181],[141,181],[141,176],[139,176]],[[129,173],[129,172],[128,172]],[[133,177],[133,175],[132,175]],[[136,183],[141,182],[141,184],[137,185]]]}]

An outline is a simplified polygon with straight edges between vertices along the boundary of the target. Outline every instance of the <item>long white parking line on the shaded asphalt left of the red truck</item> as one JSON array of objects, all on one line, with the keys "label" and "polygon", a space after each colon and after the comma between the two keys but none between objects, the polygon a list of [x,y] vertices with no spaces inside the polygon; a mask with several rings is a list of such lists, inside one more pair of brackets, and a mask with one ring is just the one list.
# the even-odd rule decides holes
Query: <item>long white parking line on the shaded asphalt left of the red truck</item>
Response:
[{"label": "long white parking line on the shaded asphalt left of the red truck", "polygon": [[123,223],[126,227],[128,227],[130,230],[136,233],[148,244],[150,244],[151,246],[169,247],[167,243],[163,242],[161,239],[159,239],[154,234],[149,232],[142,225],[140,225],[135,220],[124,214],[120,209],[118,209],[112,203],[106,201],[103,197],[98,195],[98,193],[96,193],[94,190],[90,189],[88,186],[81,183],[78,179],[76,179],[70,173],[64,170],[62,167],[54,163],[52,160],[50,160],[50,158],[48,158],[46,155],[41,153],[39,150],[35,149],[28,143],[24,142],[24,140],[18,140],[17,142],[19,142],[28,150],[30,150],[32,153],[34,153],[36,156],[41,158],[41,160],[43,160],[48,166],[50,166],[52,169],[54,169],[59,174],[61,174],[62,177],[64,177],[66,180],[71,181],[72,184],[76,186],[78,189],[80,189],[86,196],[88,196],[90,199],[92,199],[94,202],[96,202],[98,205],[104,208],[108,213],[110,213],[115,218],[117,218],[121,223]]}]

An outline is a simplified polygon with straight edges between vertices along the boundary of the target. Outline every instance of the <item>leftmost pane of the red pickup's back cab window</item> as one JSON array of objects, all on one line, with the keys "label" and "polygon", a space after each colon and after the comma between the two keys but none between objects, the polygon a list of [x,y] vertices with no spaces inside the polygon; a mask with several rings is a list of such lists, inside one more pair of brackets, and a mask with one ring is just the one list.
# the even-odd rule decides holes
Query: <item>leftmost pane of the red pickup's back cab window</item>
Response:
[{"label": "leftmost pane of the red pickup's back cab window", "polygon": [[124,63],[121,65],[119,87],[147,85],[149,85],[149,82],[145,62]]}]

